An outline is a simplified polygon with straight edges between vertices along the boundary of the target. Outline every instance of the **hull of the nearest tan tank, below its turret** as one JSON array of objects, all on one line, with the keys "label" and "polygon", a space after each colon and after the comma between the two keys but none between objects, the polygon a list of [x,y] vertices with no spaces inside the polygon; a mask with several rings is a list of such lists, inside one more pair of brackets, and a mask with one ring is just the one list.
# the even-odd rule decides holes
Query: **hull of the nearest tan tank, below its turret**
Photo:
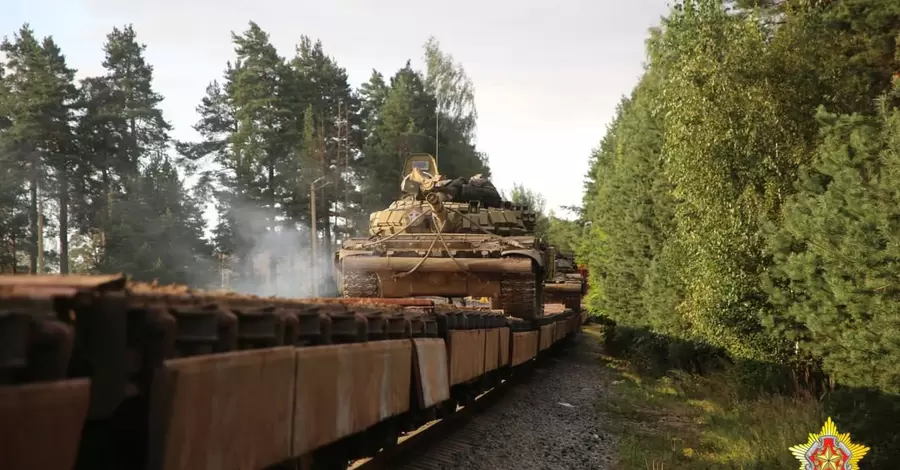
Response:
[{"label": "hull of the nearest tan tank, below its turret", "polygon": [[336,271],[344,296],[490,297],[512,316],[534,318],[543,305],[537,244],[531,236],[472,233],[353,238],[337,253]]}]

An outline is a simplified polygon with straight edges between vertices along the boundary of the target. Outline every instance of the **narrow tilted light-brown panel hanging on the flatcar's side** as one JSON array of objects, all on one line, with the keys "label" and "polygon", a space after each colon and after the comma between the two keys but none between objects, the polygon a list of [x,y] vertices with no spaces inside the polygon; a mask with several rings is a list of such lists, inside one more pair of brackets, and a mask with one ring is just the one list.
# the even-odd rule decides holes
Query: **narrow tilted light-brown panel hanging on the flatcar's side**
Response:
[{"label": "narrow tilted light-brown panel hanging on the flatcar's side", "polygon": [[413,339],[416,398],[427,409],[450,398],[447,348],[442,338]]}]

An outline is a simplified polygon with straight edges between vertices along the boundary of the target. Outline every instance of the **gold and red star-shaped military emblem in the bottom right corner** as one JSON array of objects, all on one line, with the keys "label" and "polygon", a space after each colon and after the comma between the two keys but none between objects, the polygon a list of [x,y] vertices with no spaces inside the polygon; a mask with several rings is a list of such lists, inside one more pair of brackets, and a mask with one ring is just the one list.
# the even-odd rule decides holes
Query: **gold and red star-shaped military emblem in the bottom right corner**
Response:
[{"label": "gold and red star-shaped military emblem in the bottom right corner", "polygon": [[852,443],[849,433],[838,434],[829,417],[821,432],[810,434],[806,444],[789,450],[800,460],[800,470],[859,470],[859,461],[869,448]]}]

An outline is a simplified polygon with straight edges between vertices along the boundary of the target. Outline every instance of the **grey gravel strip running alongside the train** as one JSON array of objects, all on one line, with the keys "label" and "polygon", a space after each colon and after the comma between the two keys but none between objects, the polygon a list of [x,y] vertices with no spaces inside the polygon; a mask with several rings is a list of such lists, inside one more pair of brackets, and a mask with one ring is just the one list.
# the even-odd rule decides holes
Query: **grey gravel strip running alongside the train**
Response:
[{"label": "grey gravel strip running alongside the train", "polygon": [[608,468],[615,448],[601,429],[600,345],[585,334],[499,403],[405,469],[588,470]]}]

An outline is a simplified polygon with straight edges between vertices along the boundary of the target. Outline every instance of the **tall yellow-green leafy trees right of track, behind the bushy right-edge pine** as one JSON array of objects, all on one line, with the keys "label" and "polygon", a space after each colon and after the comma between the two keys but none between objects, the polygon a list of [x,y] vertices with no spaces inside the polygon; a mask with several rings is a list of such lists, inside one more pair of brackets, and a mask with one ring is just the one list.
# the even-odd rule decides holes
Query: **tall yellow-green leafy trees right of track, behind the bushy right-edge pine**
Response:
[{"label": "tall yellow-green leafy trees right of track, behind the bushy right-edge pine", "polygon": [[768,273],[784,266],[766,247],[824,138],[815,109],[875,111],[898,69],[900,8],[749,6],[682,2],[651,32],[644,77],[591,159],[579,258],[594,312],[735,358],[793,361],[811,320],[772,297]]}]

